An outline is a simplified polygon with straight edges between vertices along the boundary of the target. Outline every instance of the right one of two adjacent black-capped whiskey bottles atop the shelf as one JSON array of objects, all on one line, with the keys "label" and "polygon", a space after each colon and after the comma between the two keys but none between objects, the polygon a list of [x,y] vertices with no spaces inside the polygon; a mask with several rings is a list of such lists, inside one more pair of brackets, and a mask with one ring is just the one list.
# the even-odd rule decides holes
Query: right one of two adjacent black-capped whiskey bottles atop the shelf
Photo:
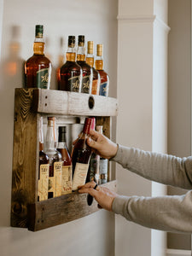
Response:
[{"label": "right one of two adjacent black-capped whiskey bottles atop the shelf", "polygon": [[92,67],[90,67],[90,65],[88,65],[85,61],[84,36],[79,36],[77,63],[83,71],[81,92],[90,94],[92,88],[93,71]]}]

